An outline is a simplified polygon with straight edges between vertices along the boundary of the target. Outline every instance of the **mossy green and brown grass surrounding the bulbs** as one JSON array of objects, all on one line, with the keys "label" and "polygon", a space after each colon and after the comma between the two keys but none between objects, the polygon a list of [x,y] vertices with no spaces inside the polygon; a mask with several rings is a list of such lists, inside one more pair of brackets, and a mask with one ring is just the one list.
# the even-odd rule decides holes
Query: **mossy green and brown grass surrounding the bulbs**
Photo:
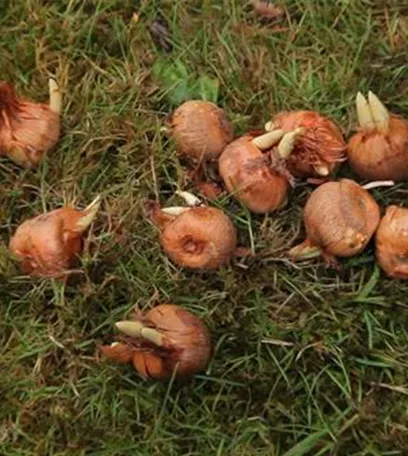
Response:
[{"label": "mossy green and brown grass surrounding the bulbs", "polygon": [[[243,0],[1,3],[1,78],[46,100],[55,75],[64,115],[61,141],[38,169],[0,159],[0,239],[73,200],[84,207],[99,193],[103,210],[66,287],[13,267],[0,275],[0,454],[407,454],[408,284],[384,277],[372,245],[340,271],[291,264],[285,252],[301,239],[310,186],[265,217],[220,200],[241,243],[262,255],[211,274],[172,265],[143,218],[144,198],[188,189],[160,132],[180,97],[216,98],[236,135],[303,108],[349,135],[355,94],[369,88],[408,118],[405,0],[284,3],[272,25]],[[171,52],[148,28],[159,15]],[[373,194],[385,207],[406,204],[407,191]],[[159,383],[100,359],[114,321],[165,302],[211,329],[206,373]]]}]

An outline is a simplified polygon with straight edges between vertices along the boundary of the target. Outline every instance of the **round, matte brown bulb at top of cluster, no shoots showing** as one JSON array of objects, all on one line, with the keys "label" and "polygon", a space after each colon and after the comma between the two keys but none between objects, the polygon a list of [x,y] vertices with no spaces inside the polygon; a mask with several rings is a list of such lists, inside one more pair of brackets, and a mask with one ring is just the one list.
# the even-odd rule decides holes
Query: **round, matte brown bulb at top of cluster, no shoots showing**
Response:
[{"label": "round, matte brown bulb at top of cluster, no shoots showing", "polygon": [[223,109],[203,100],[189,100],[170,119],[171,134],[180,155],[194,162],[217,158],[233,139]]}]

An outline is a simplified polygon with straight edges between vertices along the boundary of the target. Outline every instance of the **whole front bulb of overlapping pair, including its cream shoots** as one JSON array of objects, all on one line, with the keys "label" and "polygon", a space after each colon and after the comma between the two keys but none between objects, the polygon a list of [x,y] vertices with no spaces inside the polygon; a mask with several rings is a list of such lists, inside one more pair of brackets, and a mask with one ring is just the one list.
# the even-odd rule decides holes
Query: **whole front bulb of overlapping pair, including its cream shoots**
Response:
[{"label": "whole front bulb of overlapping pair, including its cream shoots", "polygon": [[251,212],[273,212],[286,203],[293,178],[286,169],[302,130],[274,130],[261,136],[243,136],[221,154],[219,172],[227,190]]}]

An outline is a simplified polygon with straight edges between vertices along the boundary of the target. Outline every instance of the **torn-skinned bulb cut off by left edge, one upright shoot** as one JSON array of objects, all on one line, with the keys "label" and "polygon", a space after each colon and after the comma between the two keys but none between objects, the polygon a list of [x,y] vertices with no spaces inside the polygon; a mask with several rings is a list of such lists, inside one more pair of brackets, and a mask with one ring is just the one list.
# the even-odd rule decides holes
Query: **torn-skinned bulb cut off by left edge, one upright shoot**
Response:
[{"label": "torn-skinned bulb cut off by left edge, one upright shoot", "polygon": [[54,148],[60,135],[61,94],[53,79],[49,94],[49,104],[35,103],[0,82],[0,155],[31,168]]}]

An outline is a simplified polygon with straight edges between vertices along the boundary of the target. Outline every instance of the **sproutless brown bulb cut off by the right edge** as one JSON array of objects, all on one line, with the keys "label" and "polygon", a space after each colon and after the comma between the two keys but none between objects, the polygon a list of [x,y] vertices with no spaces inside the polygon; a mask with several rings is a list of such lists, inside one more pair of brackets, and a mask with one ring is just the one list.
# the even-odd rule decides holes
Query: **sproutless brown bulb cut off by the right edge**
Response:
[{"label": "sproutless brown bulb cut off by the right edge", "polygon": [[375,237],[376,258],[388,277],[408,279],[408,209],[389,206]]}]

